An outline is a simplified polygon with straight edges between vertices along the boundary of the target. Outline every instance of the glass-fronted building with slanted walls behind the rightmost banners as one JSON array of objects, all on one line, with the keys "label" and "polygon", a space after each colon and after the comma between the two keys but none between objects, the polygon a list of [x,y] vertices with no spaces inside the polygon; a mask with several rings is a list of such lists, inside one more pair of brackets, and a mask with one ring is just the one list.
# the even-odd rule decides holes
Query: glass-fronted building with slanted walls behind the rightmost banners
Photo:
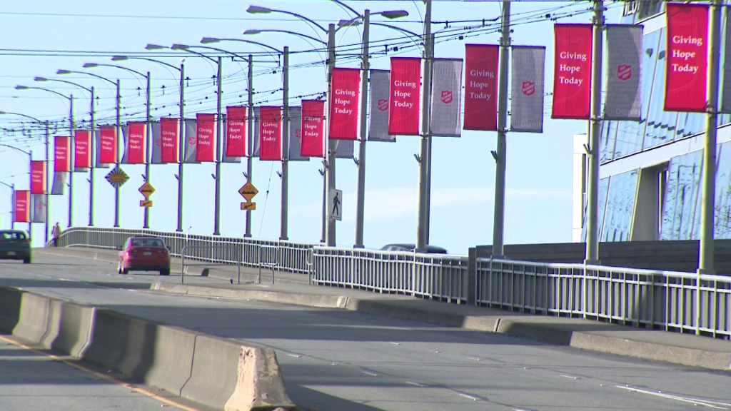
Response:
[{"label": "glass-fronted building with slanted walls behind the rightmost banners", "polygon": [[[602,124],[599,241],[698,239],[705,113],[662,109],[667,44],[664,1],[627,1],[620,23],[644,26],[642,121]],[[726,13],[722,13],[721,64],[726,27]],[[722,68],[720,73],[722,82]],[[731,238],[730,123],[730,115],[719,115],[716,238]],[[575,173],[580,176],[575,175],[574,241],[586,241],[586,154],[580,154],[582,143],[586,143],[586,135],[575,136],[575,165],[580,165]]]}]

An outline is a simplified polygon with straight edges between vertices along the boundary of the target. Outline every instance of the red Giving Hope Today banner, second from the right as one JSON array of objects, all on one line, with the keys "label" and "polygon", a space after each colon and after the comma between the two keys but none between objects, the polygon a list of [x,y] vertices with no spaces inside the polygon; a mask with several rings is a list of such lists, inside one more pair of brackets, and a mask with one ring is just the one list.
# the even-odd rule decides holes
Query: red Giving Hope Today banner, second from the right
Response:
[{"label": "red Giving Hope Today banner, second from the right", "polygon": [[591,109],[591,24],[556,24],[551,118],[588,120]]}]

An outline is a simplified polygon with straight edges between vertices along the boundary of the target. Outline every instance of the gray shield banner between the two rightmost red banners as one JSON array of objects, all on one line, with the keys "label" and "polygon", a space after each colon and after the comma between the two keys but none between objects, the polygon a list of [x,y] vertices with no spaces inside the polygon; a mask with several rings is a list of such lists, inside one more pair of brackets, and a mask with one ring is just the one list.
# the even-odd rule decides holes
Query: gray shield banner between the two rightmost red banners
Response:
[{"label": "gray shield banner between the two rightmost red banners", "polygon": [[605,120],[640,121],[643,26],[607,25]]}]

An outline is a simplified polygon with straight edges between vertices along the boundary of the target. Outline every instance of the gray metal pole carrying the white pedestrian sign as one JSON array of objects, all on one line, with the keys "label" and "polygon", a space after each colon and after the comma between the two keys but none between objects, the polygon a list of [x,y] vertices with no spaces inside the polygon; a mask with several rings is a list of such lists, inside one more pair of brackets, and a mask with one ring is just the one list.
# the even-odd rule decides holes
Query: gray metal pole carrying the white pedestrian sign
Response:
[{"label": "gray metal pole carrying the white pedestrian sign", "polygon": [[325,110],[327,112],[327,124],[325,127],[327,138],[325,139],[325,147],[327,151],[327,162],[325,164],[325,180],[327,181],[325,192],[325,201],[322,202],[322,207],[325,208],[325,239],[327,246],[334,247],[336,244],[336,225],[335,219],[333,219],[332,210],[327,206],[327,199],[330,198],[330,192],[332,192],[335,186],[335,162],[336,162],[336,141],[330,140],[330,101],[333,99],[333,69],[335,69],[335,25],[330,24],[327,27],[327,103],[325,103]]}]

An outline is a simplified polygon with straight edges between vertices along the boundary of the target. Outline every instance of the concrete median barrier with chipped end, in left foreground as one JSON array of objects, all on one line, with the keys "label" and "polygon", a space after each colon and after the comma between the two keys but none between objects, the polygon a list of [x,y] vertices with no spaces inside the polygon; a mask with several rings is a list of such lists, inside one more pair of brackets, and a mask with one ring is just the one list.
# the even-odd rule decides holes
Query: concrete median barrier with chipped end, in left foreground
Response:
[{"label": "concrete median barrier with chipped end, in left foreground", "polygon": [[227,411],[297,410],[274,350],[0,287],[0,328]]}]

